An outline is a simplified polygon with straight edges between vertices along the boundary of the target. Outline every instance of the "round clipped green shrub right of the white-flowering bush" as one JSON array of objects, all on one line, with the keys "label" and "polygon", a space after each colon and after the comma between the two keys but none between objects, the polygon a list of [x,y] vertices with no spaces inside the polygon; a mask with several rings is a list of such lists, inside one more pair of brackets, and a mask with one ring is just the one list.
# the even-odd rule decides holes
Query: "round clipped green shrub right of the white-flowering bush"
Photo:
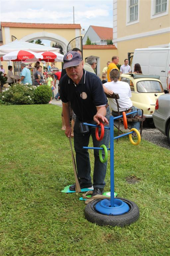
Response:
[{"label": "round clipped green shrub right of the white-flowering bush", "polygon": [[47,104],[52,97],[52,90],[47,85],[41,85],[34,91],[34,103]]}]

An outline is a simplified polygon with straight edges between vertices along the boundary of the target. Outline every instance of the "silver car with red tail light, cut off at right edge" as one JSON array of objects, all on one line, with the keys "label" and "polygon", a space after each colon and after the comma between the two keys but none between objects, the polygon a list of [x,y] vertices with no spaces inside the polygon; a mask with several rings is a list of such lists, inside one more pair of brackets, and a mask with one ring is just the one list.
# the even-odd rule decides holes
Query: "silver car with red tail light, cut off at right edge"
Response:
[{"label": "silver car with red tail light, cut off at right edge", "polygon": [[152,116],[155,127],[168,137],[170,143],[170,93],[159,96]]}]

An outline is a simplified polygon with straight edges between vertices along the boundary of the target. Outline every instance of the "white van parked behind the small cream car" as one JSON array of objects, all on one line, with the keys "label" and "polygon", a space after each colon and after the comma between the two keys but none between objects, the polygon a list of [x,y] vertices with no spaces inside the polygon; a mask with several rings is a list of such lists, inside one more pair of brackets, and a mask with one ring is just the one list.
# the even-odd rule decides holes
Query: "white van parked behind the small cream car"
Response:
[{"label": "white van parked behind the small cream car", "polygon": [[163,88],[167,88],[166,78],[168,70],[170,70],[170,47],[135,49],[131,65],[132,72],[135,63],[140,64],[143,74],[159,75]]}]

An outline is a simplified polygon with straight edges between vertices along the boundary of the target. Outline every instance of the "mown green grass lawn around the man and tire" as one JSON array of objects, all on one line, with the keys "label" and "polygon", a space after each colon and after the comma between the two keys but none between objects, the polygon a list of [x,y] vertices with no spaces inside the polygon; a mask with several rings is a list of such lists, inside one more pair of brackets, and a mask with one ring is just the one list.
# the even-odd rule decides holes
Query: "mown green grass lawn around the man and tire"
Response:
[{"label": "mown green grass lawn around the man and tire", "polygon": [[[138,205],[140,217],[124,228],[101,227],[85,219],[80,194],[61,193],[74,182],[61,108],[1,106],[0,113],[0,255],[170,255],[168,149],[144,140],[133,146],[128,137],[115,142],[115,191]],[[109,170],[108,163],[105,191]],[[129,184],[130,176],[139,182]]]}]

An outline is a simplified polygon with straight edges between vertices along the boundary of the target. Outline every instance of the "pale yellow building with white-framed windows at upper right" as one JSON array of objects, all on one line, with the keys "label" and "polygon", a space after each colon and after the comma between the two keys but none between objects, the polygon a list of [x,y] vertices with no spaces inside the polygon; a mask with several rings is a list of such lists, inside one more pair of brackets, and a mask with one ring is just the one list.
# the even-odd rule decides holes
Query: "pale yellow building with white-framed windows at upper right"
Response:
[{"label": "pale yellow building with white-framed windows at upper right", "polygon": [[168,47],[170,43],[169,0],[114,0],[113,43],[119,63],[136,48]]}]

